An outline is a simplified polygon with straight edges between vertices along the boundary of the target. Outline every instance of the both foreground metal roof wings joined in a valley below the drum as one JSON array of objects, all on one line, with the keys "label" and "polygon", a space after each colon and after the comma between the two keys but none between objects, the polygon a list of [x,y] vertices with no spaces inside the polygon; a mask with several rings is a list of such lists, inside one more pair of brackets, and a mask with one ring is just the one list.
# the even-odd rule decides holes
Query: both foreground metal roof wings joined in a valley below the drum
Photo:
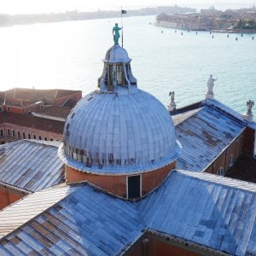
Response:
[{"label": "both foreground metal roof wings joined in a valley below the drum", "polygon": [[0,212],[0,230],[6,230],[0,253],[115,255],[153,230],[225,253],[254,255],[255,217],[255,184],[208,173],[173,171],[137,202],[86,183],[61,185]]}]

